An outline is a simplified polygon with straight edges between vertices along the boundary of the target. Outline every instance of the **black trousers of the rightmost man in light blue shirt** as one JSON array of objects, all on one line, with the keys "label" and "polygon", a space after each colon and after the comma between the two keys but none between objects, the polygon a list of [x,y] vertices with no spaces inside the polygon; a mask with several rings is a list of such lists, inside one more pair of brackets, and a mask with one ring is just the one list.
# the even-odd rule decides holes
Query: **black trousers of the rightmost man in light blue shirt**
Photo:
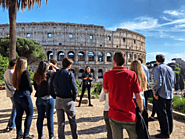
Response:
[{"label": "black trousers of the rightmost man in light blue shirt", "polygon": [[172,99],[159,97],[156,102],[161,134],[170,135],[173,130]]}]

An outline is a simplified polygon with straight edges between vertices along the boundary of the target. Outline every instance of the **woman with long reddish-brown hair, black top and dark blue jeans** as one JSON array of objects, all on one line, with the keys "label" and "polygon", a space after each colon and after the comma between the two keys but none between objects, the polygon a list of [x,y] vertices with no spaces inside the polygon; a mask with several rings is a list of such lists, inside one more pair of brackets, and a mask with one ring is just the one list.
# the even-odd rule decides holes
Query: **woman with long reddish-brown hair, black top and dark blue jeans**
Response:
[{"label": "woman with long reddish-brown hair, black top and dark blue jeans", "polygon": [[32,85],[30,82],[29,72],[27,68],[27,59],[20,57],[16,61],[15,71],[13,73],[12,81],[13,85],[16,88],[14,97],[15,97],[15,106],[17,111],[17,116],[15,119],[16,130],[17,130],[17,139],[20,139],[22,136],[22,116],[25,111],[25,127],[24,127],[24,139],[32,139],[34,135],[29,135],[29,130],[33,117],[33,103],[31,100]]}]

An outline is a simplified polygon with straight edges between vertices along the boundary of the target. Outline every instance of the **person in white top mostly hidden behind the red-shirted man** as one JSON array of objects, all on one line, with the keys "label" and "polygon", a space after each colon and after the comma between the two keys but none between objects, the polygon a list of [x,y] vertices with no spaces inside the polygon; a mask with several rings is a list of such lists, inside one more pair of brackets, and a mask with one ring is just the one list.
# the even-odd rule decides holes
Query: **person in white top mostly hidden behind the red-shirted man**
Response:
[{"label": "person in white top mostly hidden behind the red-shirted man", "polygon": [[107,139],[112,139],[112,131],[111,131],[111,127],[110,127],[110,124],[109,124],[109,117],[108,117],[108,111],[109,111],[109,97],[108,97],[108,94],[106,94],[104,91],[103,91],[103,88],[101,90],[101,93],[100,93],[100,98],[99,98],[99,101],[102,102],[102,101],[105,101],[105,106],[104,106],[104,120],[105,120],[105,124],[106,124],[106,129],[107,129]]}]

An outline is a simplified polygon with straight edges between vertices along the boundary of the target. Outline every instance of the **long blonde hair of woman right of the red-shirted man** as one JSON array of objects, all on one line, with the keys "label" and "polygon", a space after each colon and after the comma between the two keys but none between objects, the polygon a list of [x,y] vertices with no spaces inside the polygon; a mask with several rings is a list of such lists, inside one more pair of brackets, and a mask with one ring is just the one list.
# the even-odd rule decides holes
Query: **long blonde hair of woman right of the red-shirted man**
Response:
[{"label": "long blonde hair of woman right of the red-shirted man", "polygon": [[137,75],[140,87],[142,91],[147,90],[147,78],[139,60],[134,60],[131,63],[130,70],[134,71]]}]

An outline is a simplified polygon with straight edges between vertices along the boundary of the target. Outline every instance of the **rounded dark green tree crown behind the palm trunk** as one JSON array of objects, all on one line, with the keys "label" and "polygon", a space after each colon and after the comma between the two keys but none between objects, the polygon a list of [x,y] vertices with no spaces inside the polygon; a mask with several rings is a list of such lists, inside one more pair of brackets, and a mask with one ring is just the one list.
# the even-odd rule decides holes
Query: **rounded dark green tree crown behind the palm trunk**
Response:
[{"label": "rounded dark green tree crown behind the palm trunk", "polygon": [[[9,37],[0,37],[0,54],[8,57],[9,54]],[[31,64],[35,61],[47,59],[42,45],[34,40],[25,38],[16,38],[16,56],[24,56]]]}]

